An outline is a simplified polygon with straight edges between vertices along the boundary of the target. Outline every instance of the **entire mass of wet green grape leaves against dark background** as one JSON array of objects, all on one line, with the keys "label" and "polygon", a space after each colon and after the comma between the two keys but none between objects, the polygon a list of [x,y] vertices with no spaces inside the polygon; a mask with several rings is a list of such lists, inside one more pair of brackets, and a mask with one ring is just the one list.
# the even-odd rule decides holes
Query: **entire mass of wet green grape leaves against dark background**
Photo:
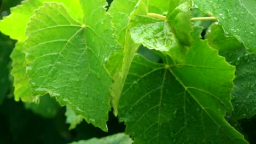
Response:
[{"label": "entire mass of wet green grape leaves against dark background", "polygon": [[1,35],[0,102],[13,94],[43,117],[65,106],[70,130],[85,119],[108,131],[109,112],[125,124],[73,143],[248,143],[241,119],[256,113],[255,6],[22,1],[2,10],[0,31],[14,40]]}]

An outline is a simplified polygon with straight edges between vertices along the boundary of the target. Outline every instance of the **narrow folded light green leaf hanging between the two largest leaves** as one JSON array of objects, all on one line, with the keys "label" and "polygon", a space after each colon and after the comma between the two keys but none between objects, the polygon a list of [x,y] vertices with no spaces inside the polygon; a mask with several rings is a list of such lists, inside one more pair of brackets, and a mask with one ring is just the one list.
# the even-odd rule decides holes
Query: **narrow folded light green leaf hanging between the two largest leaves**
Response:
[{"label": "narrow folded light green leaf hanging between the two largest leaves", "polygon": [[[126,7],[123,7],[126,5]],[[110,87],[112,95],[112,106],[114,115],[118,115],[118,103],[122,92],[127,73],[129,71],[133,55],[139,45],[135,44],[130,37],[130,20],[136,14],[147,15],[148,0],[113,1],[109,13],[113,16],[112,22],[117,31],[118,41],[123,49],[108,58],[106,68],[112,75],[114,83]]]}]

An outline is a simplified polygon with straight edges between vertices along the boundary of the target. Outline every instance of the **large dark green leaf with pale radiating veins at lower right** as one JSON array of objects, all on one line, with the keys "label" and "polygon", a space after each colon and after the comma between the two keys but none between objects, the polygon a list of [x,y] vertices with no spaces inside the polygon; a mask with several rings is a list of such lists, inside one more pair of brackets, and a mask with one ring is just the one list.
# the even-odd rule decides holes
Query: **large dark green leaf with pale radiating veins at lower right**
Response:
[{"label": "large dark green leaf with pale radiating veins at lower right", "polygon": [[235,68],[207,41],[196,40],[186,58],[134,59],[119,103],[126,133],[135,143],[247,143],[224,119]]}]

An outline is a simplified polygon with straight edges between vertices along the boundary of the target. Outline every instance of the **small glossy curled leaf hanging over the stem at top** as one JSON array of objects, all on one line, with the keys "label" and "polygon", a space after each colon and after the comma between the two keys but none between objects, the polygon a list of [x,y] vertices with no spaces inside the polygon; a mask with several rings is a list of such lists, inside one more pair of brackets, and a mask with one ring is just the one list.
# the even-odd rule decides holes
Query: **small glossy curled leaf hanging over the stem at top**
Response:
[{"label": "small glossy curled leaf hanging over the stem at top", "polygon": [[190,0],[178,0],[171,1],[167,20],[171,27],[175,29],[177,38],[185,46],[190,46],[193,42],[193,38],[190,33],[193,31],[192,23],[192,1]]}]

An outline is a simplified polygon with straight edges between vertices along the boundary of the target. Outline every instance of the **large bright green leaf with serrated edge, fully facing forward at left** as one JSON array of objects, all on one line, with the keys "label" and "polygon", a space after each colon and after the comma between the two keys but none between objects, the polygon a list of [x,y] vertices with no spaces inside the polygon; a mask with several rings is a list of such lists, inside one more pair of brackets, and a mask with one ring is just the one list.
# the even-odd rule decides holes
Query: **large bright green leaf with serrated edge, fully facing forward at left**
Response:
[{"label": "large bright green leaf with serrated edge, fully facing forward at left", "polygon": [[80,5],[83,21],[74,19],[63,4],[44,3],[34,11],[24,45],[27,74],[33,97],[49,93],[107,131],[112,81],[103,65],[119,46],[109,37],[114,31],[106,2],[81,1]]}]

